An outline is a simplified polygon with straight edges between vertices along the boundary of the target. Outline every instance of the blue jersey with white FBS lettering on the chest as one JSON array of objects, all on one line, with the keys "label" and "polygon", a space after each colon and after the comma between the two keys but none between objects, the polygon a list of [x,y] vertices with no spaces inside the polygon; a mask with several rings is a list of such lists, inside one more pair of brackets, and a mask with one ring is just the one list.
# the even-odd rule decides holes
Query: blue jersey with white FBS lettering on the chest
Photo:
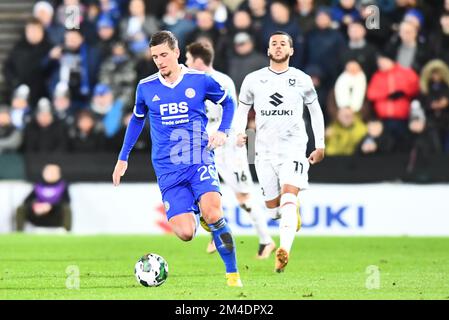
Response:
[{"label": "blue jersey with white FBS lettering on the chest", "polygon": [[213,163],[213,151],[206,149],[205,101],[220,104],[226,97],[226,90],[212,77],[185,66],[173,84],[159,72],[139,82],[134,115],[148,116],[150,121],[156,176],[192,164]]}]

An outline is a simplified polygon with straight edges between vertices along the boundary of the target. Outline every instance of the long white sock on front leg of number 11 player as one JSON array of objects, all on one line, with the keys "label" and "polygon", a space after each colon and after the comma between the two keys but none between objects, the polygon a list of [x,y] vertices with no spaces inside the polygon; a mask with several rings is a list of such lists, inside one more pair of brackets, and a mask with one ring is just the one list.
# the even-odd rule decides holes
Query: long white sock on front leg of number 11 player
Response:
[{"label": "long white sock on front leg of number 11 player", "polygon": [[281,196],[281,220],[279,222],[280,247],[290,252],[295,239],[298,216],[296,214],[297,197],[293,193]]}]

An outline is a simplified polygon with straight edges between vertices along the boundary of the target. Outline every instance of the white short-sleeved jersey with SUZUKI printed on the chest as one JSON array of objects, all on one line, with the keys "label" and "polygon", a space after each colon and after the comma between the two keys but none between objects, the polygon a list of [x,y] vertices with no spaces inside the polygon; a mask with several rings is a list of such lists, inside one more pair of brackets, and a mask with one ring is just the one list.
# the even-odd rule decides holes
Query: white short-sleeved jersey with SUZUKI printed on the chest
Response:
[{"label": "white short-sleeved jersey with SUZUKI printed on the chest", "polygon": [[239,100],[256,113],[256,156],[305,153],[304,104],[316,99],[310,76],[294,67],[279,73],[265,67],[248,74]]}]

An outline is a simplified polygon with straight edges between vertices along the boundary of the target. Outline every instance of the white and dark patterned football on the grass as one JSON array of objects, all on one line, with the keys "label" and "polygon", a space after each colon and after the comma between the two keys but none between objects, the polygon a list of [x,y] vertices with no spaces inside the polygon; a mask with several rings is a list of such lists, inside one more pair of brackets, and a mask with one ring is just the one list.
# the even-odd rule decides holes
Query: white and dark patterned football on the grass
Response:
[{"label": "white and dark patterned football on the grass", "polygon": [[167,280],[168,264],[160,255],[148,253],[137,261],[134,274],[141,285],[158,287]]}]

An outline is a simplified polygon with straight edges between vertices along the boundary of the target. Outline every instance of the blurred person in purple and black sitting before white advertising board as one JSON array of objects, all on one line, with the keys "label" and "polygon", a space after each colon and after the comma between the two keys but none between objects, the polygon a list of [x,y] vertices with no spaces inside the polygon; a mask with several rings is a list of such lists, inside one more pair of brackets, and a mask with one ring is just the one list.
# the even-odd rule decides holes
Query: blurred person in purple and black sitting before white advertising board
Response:
[{"label": "blurred person in purple and black sitting before white advertising board", "polygon": [[25,231],[26,223],[34,227],[72,228],[72,213],[67,183],[62,179],[61,168],[47,164],[42,170],[42,180],[17,209],[16,229]]}]

